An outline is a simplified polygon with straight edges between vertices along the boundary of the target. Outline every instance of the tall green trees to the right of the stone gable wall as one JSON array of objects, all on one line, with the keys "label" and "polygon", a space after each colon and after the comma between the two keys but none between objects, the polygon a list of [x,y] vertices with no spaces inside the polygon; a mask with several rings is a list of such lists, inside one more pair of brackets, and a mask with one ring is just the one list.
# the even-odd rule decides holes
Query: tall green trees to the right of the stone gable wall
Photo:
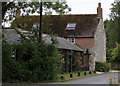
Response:
[{"label": "tall green trees to the right of the stone gable wall", "polygon": [[[116,48],[118,47],[116,46],[116,43],[120,44],[119,23],[120,23],[120,2],[119,0],[115,0],[114,3],[112,3],[110,20],[105,20],[104,22],[107,36],[107,61],[112,63],[118,62],[117,59],[120,58],[119,54],[117,54],[119,52],[119,49],[117,51]],[[114,59],[116,57],[117,59]]]}]

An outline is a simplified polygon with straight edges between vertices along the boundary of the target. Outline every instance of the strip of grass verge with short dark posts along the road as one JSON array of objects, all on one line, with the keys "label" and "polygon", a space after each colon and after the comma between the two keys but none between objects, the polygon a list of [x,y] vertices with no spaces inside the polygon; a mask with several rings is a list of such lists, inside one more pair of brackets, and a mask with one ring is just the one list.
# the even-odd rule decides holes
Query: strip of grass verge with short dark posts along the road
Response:
[{"label": "strip of grass verge with short dark posts along the road", "polygon": [[[87,72],[87,75],[84,75],[84,72],[85,71],[81,71],[80,72],[80,76],[78,76],[78,72],[73,72],[73,78],[70,78],[70,73],[64,73],[64,74],[59,74],[58,75],[58,78],[56,79],[56,82],[66,82],[66,81],[69,81],[69,80],[72,80],[72,79],[78,79],[82,76],[89,76],[89,75],[95,75],[95,73],[91,73],[89,74],[89,71],[86,71]],[[61,76],[64,76],[64,79],[61,78]]]}]

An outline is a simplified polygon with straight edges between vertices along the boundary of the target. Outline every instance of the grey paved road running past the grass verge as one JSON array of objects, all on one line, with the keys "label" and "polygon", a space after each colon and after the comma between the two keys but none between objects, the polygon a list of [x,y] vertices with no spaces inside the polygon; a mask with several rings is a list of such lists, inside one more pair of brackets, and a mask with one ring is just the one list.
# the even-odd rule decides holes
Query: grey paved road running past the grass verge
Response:
[{"label": "grey paved road running past the grass verge", "polygon": [[[109,84],[110,83],[110,77],[115,77],[116,84],[118,84],[118,77],[120,79],[120,72],[109,72],[109,73],[104,73],[100,75],[95,75],[95,76],[87,76],[83,77],[77,80],[72,80],[68,82],[63,82],[59,84]],[[115,83],[115,82],[114,82]],[[58,84],[58,83],[56,83]]]}]

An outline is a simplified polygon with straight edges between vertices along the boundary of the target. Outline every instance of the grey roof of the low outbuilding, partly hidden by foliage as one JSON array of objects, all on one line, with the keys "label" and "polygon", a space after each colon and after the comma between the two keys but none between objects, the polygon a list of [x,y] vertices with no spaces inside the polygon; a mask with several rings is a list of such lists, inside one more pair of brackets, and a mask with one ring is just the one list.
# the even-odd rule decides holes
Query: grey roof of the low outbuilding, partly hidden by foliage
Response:
[{"label": "grey roof of the low outbuilding, partly hidden by foliage", "polygon": [[[20,30],[21,31],[21,30]],[[27,32],[27,31],[23,31],[22,32]],[[4,37],[5,39],[7,39],[8,42],[13,43],[20,43],[20,35],[17,34],[15,29],[3,29],[3,33],[4,33]],[[27,32],[28,33],[28,32]],[[65,40],[64,38],[61,37],[56,37],[58,40],[58,48],[59,49],[66,49],[66,50],[74,50],[74,51],[83,51],[82,49],[80,49],[79,47],[77,47],[76,45],[73,45],[72,43],[68,42],[67,40]],[[51,38],[46,35],[43,34],[43,39],[45,40],[46,43],[52,43]]]}]

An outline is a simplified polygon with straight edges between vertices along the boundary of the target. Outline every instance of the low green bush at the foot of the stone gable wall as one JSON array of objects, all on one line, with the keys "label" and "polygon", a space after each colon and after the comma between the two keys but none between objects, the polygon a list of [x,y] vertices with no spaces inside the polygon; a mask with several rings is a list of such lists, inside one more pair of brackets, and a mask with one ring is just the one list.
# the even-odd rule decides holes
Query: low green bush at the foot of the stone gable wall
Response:
[{"label": "low green bush at the foot of the stone gable wall", "polygon": [[106,62],[96,62],[95,70],[99,72],[109,72],[111,64]]}]

